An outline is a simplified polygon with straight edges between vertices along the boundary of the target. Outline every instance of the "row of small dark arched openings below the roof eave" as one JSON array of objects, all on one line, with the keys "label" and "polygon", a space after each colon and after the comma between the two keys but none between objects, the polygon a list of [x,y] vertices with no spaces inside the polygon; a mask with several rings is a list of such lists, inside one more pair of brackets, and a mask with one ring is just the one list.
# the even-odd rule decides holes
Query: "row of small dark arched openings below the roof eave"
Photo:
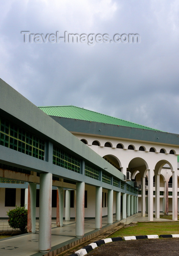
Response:
[{"label": "row of small dark arched openings below the roof eave", "polygon": [[[85,139],[81,139],[81,141],[82,141],[83,143],[87,144],[87,141],[86,141]],[[100,146],[100,143],[99,143],[97,140],[94,140],[93,143],[92,143],[92,145]],[[106,142],[106,143],[104,144],[104,146],[105,146],[105,147],[112,147],[112,145],[111,145],[110,142]],[[124,146],[123,146],[122,144],[118,143],[117,146],[116,146],[116,148],[122,148],[122,149],[124,149]],[[128,149],[130,149],[130,150],[135,150],[135,147],[134,147],[133,145],[129,145],[129,146],[128,146]],[[139,151],[146,151],[146,148],[143,147],[143,146],[140,146],[140,147],[139,147]],[[150,150],[149,150],[149,152],[156,152],[156,149],[155,149],[154,147],[151,147]],[[165,150],[164,148],[161,148],[161,149],[160,149],[160,153],[166,154],[166,150]],[[169,154],[174,155],[174,154],[176,154],[176,153],[175,153],[174,150],[170,150],[170,153],[169,153]]]}]

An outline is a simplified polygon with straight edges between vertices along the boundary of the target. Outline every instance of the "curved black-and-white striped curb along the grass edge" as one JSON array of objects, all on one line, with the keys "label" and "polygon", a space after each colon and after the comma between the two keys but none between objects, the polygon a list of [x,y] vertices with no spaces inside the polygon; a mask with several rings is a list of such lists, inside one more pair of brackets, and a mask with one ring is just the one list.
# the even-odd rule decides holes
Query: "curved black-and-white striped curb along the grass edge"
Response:
[{"label": "curved black-and-white striped curb along the grass edge", "polygon": [[176,235],[146,235],[146,236],[128,236],[128,237],[113,237],[113,238],[105,238],[102,240],[98,240],[96,242],[93,242],[85,247],[83,247],[82,249],[79,249],[78,251],[76,251],[75,253],[69,255],[69,256],[83,256],[86,255],[87,253],[89,253],[90,251],[92,251],[94,248],[102,245],[102,244],[107,244],[110,242],[116,242],[116,241],[127,241],[127,240],[139,240],[139,239],[153,239],[153,238],[170,238],[170,237],[177,237],[179,238],[179,234]]}]

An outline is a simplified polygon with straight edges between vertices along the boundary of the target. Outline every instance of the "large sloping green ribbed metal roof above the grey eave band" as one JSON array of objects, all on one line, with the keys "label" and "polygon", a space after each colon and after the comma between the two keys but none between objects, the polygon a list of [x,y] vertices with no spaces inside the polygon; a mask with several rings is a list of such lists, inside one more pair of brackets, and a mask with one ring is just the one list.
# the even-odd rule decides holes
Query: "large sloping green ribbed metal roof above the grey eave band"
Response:
[{"label": "large sloping green ribbed metal roof above the grey eave band", "polygon": [[92,110],[79,108],[76,106],[43,106],[39,108],[49,116],[66,117],[66,118],[73,118],[73,119],[79,119],[79,120],[85,120],[85,121],[93,121],[98,123],[114,124],[114,125],[121,125],[125,127],[159,131],[157,129],[153,129],[144,125],[135,124],[129,121],[122,120],[120,118],[108,116],[105,114],[94,112]]}]

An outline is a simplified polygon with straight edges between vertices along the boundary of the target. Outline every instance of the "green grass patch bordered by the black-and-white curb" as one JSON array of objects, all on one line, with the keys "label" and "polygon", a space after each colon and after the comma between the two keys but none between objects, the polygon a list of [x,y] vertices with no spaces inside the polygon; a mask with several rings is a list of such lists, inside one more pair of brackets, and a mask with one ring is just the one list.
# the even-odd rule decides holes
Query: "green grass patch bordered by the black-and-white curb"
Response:
[{"label": "green grass patch bordered by the black-and-white curb", "polygon": [[138,222],[122,227],[109,237],[179,234],[179,222]]}]

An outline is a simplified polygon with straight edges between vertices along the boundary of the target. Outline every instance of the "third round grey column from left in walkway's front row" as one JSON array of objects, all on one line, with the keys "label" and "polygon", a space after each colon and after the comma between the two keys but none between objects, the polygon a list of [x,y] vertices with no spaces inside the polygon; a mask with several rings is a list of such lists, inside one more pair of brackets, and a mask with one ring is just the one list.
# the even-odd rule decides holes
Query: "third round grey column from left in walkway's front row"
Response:
[{"label": "third round grey column from left in walkway's front row", "polygon": [[95,228],[102,228],[102,187],[96,187]]}]

